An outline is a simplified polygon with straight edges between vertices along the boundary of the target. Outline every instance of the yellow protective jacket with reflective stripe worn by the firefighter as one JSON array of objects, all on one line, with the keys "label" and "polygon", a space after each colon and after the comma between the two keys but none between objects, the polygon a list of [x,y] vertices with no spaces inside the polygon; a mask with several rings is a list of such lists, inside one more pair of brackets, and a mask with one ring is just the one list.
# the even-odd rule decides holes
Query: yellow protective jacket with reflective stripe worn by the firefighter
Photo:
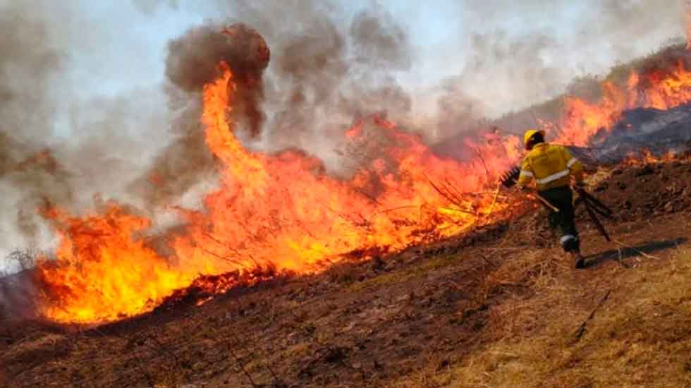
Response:
[{"label": "yellow protective jacket with reflective stripe worn by the firefighter", "polygon": [[570,183],[570,175],[577,182],[583,180],[583,166],[563,145],[539,143],[525,155],[518,176],[518,184],[526,186],[532,179],[537,190],[548,190]]}]

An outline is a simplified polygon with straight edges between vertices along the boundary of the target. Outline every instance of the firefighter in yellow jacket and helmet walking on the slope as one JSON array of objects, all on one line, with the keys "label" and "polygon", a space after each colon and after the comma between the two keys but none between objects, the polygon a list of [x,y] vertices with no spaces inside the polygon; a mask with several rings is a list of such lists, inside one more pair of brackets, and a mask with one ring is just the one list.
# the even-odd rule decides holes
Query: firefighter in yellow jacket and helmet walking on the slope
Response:
[{"label": "firefighter in yellow jacket and helmet walking on the slope", "polygon": [[528,153],[523,159],[518,187],[523,190],[535,180],[539,195],[558,209],[550,210],[549,224],[561,231],[562,248],[573,257],[576,268],[583,268],[585,260],[580,254],[570,187],[571,178],[577,186],[583,186],[583,166],[566,147],[545,143],[544,131],[526,131],[523,142]]}]

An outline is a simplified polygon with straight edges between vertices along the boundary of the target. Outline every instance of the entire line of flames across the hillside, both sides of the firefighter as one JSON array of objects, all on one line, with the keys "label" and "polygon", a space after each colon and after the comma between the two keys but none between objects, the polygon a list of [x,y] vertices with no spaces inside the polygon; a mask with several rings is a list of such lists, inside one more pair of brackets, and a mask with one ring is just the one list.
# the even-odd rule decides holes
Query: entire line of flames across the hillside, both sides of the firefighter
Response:
[{"label": "entire line of flames across the hillside, both sides of the firefighter", "polygon": [[[203,210],[176,208],[185,226],[164,236],[150,236],[152,221],[116,202],[80,216],[44,208],[60,242],[55,257],[44,257],[35,268],[40,317],[65,324],[112,322],[147,313],[190,286],[224,293],[238,284],[320,272],[345,257],[365,260],[510,217],[496,180],[519,159],[519,138],[478,135],[467,141],[472,157],[460,162],[437,156],[383,114],[367,116],[345,132],[348,147],[362,160],[348,178],[334,178],[305,152],[253,152],[238,137],[240,123],[257,135],[264,120],[257,109],[269,61],[262,37],[245,25],[192,35],[213,42],[201,71],[196,62],[169,68],[198,75],[178,80],[188,90],[203,84],[201,122],[218,162],[218,187],[204,195]],[[625,87],[606,82],[598,102],[569,97],[563,121],[542,125],[557,143],[597,145],[627,109],[689,102],[688,66],[685,54],[630,73]],[[154,239],[170,252],[155,249]]]}]

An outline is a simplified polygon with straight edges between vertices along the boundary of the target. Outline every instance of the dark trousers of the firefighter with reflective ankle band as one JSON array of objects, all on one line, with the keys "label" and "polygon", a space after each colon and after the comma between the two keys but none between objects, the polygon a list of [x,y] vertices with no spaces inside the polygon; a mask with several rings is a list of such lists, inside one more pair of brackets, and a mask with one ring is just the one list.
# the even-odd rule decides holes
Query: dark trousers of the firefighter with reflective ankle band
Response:
[{"label": "dark trousers of the firefighter with reflective ankle band", "polygon": [[542,190],[539,192],[542,198],[551,203],[559,211],[549,211],[549,224],[552,228],[561,232],[561,246],[565,252],[580,250],[580,240],[575,224],[575,212],[573,210],[573,192],[569,186],[561,186]]}]

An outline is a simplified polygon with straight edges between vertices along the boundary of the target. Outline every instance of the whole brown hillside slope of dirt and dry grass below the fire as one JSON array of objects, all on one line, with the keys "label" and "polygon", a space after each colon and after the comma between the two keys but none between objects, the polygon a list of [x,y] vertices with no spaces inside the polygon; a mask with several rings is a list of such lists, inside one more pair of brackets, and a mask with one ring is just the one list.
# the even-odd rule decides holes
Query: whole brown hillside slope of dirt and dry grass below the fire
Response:
[{"label": "whole brown hillside slope of dirt and dry grass below the fire", "polygon": [[6,320],[0,386],[691,387],[691,163],[593,179],[619,244],[580,210],[587,269],[536,212],[97,329]]}]

